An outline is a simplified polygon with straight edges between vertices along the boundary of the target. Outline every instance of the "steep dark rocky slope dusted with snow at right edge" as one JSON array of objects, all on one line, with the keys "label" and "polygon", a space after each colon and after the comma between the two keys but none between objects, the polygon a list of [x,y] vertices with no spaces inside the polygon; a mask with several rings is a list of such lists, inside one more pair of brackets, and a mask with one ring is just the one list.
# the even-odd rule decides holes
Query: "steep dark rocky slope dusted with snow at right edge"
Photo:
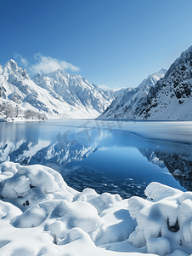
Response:
[{"label": "steep dark rocky slope dusted with snow at right edge", "polygon": [[192,46],[173,62],[165,77],[150,90],[145,102],[138,107],[137,118],[192,120],[191,88]]}]

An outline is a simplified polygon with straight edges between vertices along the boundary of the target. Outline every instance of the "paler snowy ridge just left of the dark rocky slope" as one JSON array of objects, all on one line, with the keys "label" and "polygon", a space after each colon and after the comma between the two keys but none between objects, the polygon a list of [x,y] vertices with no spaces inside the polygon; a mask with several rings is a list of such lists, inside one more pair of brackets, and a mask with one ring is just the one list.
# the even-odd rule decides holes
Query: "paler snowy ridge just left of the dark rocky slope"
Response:
[{"label": "paler snowy ridge just left of the dark rocky slope", "polygon": [[131,87],[122,91],[99,118],[134,119],[140,102],[142,102],[143,98],[148,96],[150,88],[154,87],[156,82],[163,78],[166,72],[166,69],[161,69],[158,73],[150,74],[138,87]]}]

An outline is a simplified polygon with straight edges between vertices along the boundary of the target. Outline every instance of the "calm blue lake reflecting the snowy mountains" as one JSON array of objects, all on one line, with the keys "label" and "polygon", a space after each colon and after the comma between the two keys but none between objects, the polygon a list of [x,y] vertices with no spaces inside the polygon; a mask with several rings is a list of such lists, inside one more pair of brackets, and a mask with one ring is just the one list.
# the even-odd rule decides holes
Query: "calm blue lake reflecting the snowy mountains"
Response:
[{"label": "calm blue lake reflecting the snowy mountains", "polygon": [[42,164],[74,189],[144,196],[152,182],[192,190],[192,122],[94,119],[0,123],[0,163]]}]

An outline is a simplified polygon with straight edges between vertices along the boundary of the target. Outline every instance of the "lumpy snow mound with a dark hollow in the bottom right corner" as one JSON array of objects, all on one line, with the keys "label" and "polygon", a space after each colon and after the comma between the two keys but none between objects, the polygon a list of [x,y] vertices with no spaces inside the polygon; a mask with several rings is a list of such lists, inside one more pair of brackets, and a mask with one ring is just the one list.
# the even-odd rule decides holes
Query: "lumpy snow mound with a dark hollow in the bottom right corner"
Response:
[{"label": "lumpy snow mound with a dark hollow in the bottom right corner", "polygon": [[[192,252],[192,192],[182,192],[160,183],[145,189],[147,199],[133,196],[129,212],[138,225],[128,241],[134,247],[147,247],[161,256],[184,249]],[[177,254],[175,254],[177,255]]]}]

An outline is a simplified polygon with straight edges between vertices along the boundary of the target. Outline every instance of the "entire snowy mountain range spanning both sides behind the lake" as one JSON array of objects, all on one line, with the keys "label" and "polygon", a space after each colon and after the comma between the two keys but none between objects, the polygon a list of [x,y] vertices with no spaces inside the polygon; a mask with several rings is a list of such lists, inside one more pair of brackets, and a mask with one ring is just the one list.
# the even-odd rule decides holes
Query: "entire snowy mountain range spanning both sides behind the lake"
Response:
[{"label": "entire snowy mountain range spanning both sides behind the lake", "polygon": [[[192,46],[172,66],[136,88],[104,90],[80,75],[57,70],[29,78],[14,60],[0,66],[0,117],[5,106],[45,113],[49,119],[192,120]],[[19,107],[18,107],[19,106]]]}]

